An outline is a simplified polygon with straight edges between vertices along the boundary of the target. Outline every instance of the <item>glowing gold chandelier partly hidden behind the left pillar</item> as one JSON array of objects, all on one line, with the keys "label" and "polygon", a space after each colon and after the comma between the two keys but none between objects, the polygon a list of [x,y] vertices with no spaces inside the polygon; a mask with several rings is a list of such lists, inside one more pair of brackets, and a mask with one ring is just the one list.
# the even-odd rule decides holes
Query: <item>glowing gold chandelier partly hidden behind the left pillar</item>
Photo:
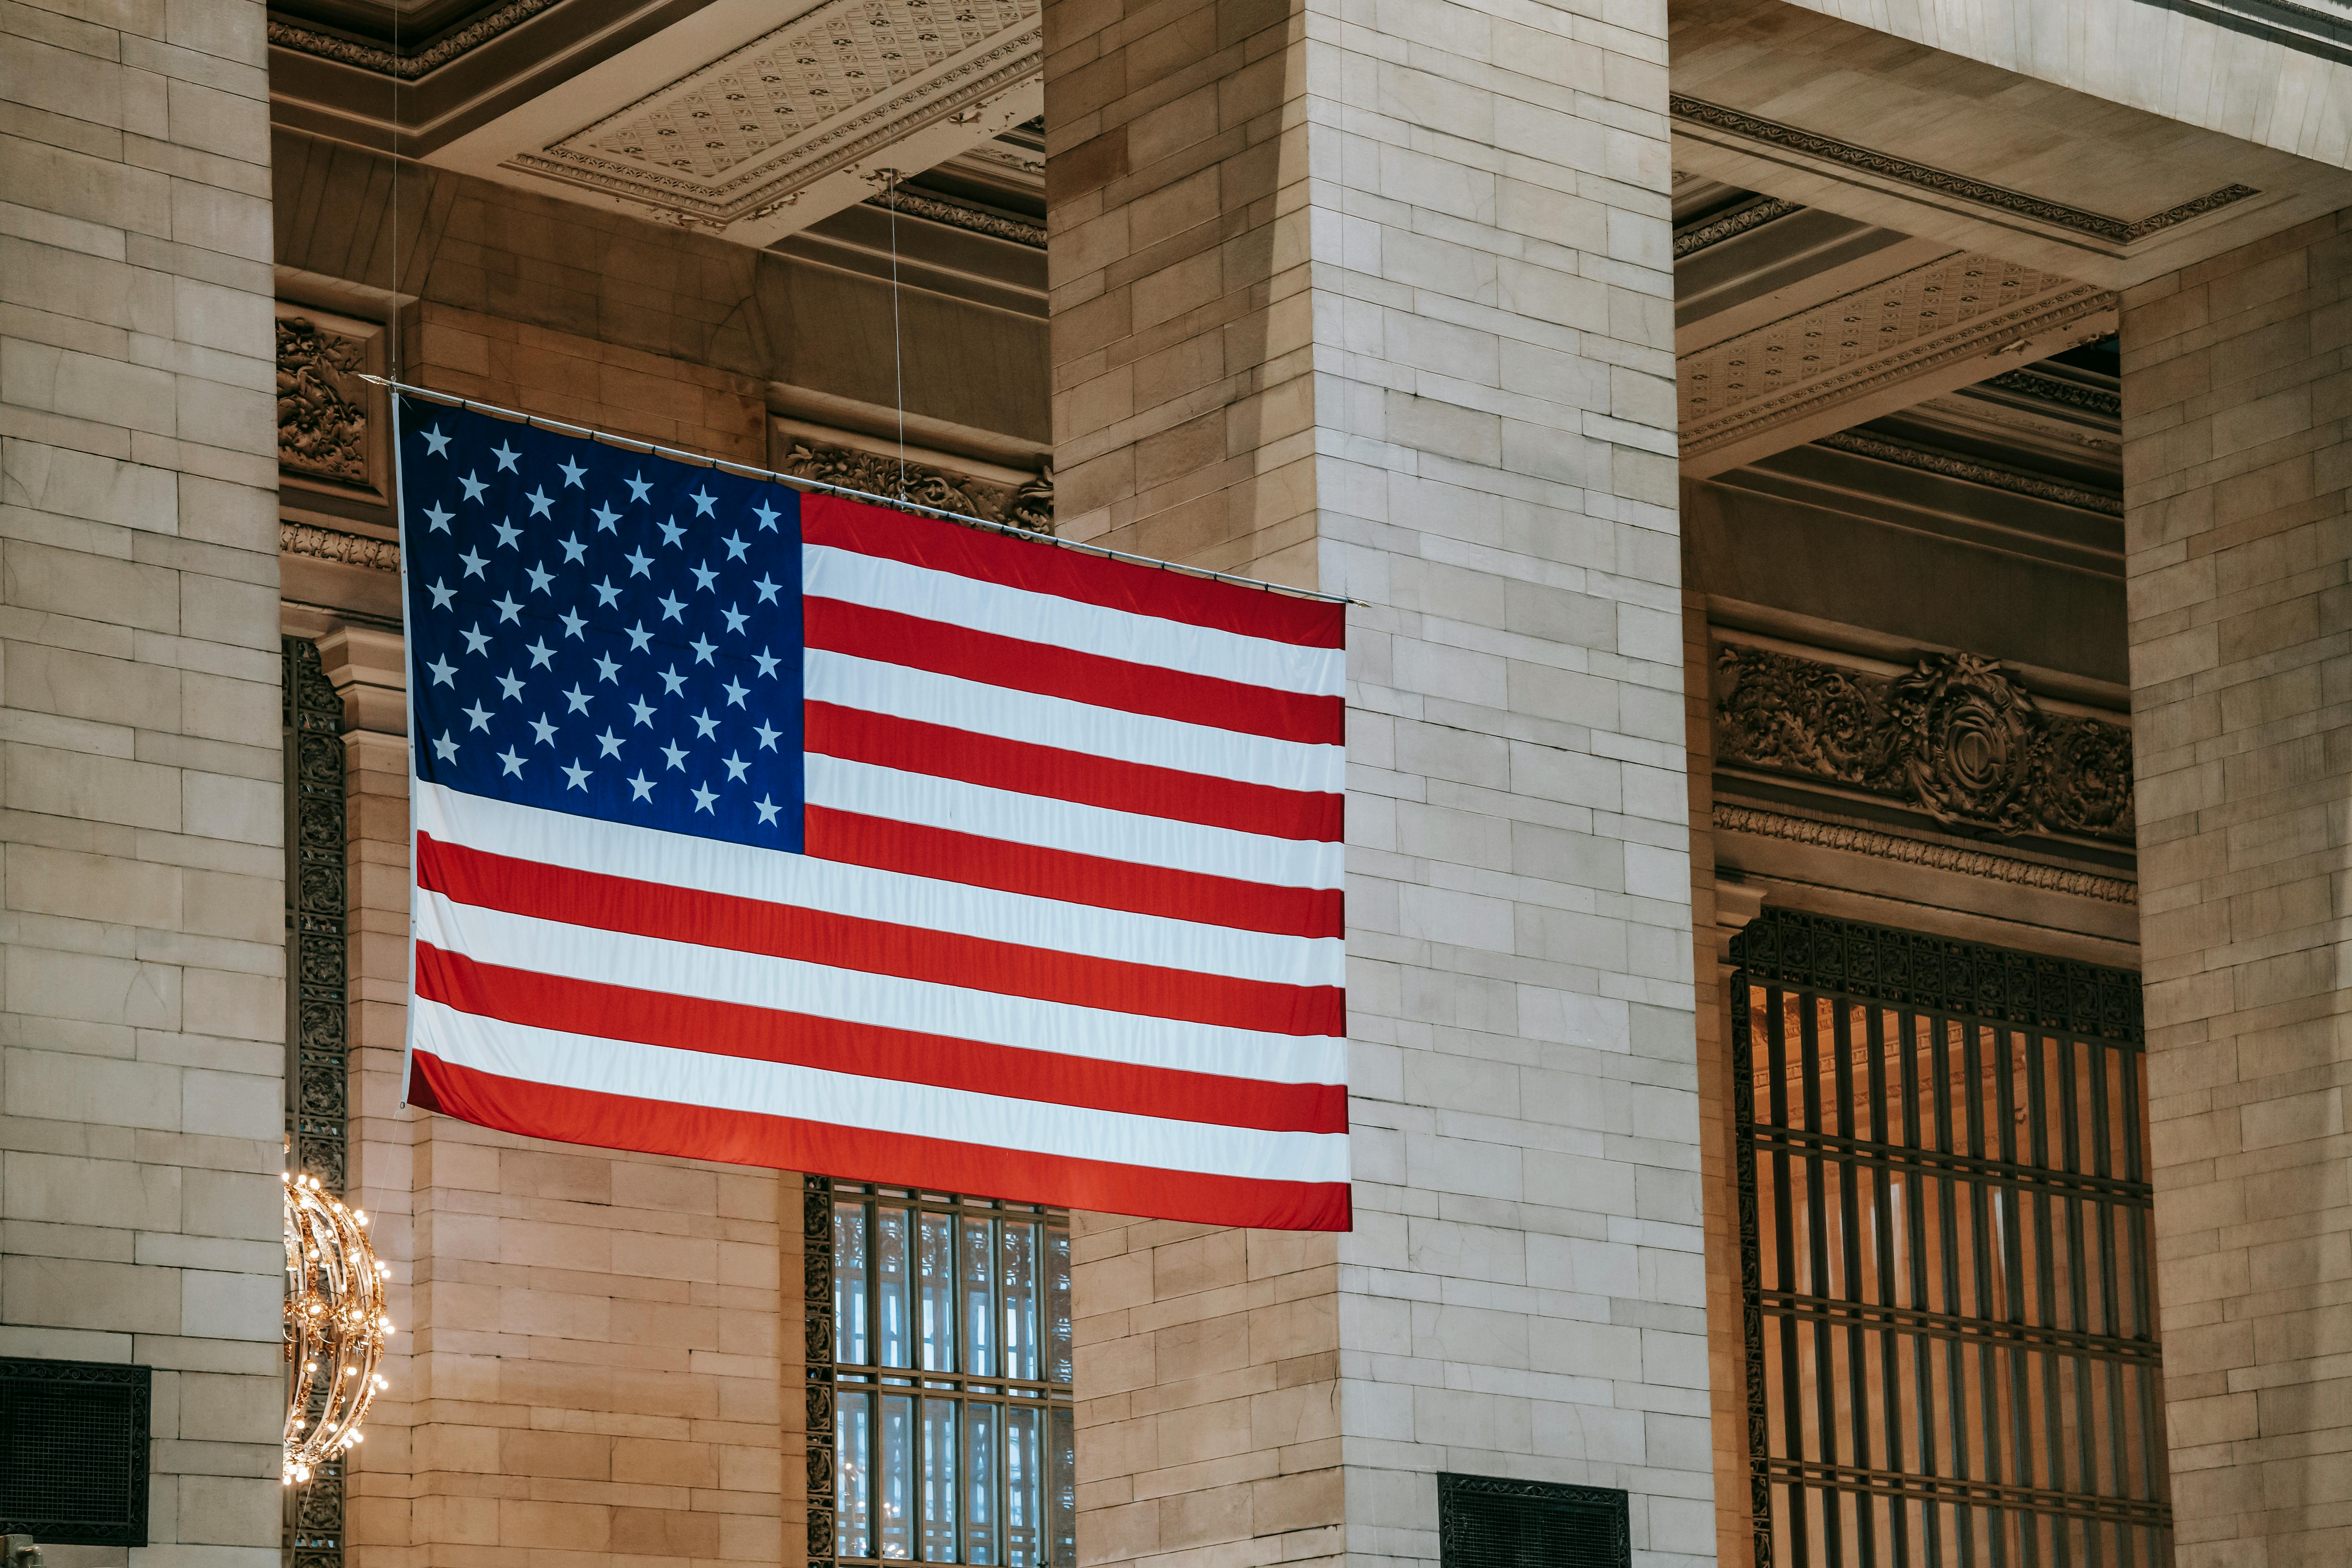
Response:
[{"label": "glowing gold chandelier partly hidden behind the left pillar", "polygon": [[393,1265],[367,1244],[367,1215],[320,1190],[287,1185],[287,1436],[285,1483],[360,1441],[360,1422],[386,1380],[376,1373],[393,1321],[383,1281]]}]

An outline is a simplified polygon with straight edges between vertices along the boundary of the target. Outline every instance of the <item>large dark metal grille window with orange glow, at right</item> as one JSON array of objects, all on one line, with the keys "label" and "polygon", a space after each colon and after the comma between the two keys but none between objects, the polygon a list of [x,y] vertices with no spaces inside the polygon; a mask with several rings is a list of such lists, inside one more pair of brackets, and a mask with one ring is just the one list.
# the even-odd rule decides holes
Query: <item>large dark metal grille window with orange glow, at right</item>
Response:
[{"label": "large dark metal grille window with orange glow, at right", "polygon": [[2171,1561],[2138,976],[1731,943],[1755,1561]]}]

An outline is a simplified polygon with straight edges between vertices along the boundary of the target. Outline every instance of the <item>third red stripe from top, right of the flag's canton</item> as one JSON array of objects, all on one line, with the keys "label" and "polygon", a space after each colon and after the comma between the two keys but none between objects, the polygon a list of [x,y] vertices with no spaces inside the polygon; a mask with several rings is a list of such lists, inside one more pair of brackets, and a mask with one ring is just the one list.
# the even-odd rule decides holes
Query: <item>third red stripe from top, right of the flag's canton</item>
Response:
[{"label": "third red stripe from top, right of the flag's canton", "polygon": [[1338,839],[1343,797],[1178,773],[1094,752],[1065,752],[969,729],[898,719],[866,708],[802,703],[802,745],[823,757],[870,762],[901,773],[957,778],[1014,795],[1164,816],[1270,839]]}]

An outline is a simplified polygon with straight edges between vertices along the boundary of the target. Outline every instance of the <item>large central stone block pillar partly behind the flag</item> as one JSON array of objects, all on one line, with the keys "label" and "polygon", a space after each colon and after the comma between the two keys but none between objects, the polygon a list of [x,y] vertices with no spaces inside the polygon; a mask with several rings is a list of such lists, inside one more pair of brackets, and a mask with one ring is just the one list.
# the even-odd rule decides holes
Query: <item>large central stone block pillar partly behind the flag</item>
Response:
[{"label": "large central stone block pillar partly behind the flag", "polygon": [[1082,1225],[1080,1552],[1712,1561],[1665,7],[1044,16],[1063,531],[1357,599],[1357,1229]]}]

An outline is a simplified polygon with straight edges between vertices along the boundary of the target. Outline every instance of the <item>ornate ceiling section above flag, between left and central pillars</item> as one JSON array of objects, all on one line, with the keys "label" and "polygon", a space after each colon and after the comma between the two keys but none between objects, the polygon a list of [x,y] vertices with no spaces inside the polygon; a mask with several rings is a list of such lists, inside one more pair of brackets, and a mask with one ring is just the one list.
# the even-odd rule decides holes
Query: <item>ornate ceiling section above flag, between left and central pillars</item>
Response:
[{"label": "ornate ceiling section above flag, between left and central pillars", "polygon": [[[955,160],[1018,186],[988,148],[1042,108],[1040,0],[285,0],[270,45],[285,125],[743,244]],[[898,195],[934,205],[1030,242],[1002,205]]]}]

